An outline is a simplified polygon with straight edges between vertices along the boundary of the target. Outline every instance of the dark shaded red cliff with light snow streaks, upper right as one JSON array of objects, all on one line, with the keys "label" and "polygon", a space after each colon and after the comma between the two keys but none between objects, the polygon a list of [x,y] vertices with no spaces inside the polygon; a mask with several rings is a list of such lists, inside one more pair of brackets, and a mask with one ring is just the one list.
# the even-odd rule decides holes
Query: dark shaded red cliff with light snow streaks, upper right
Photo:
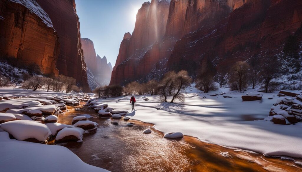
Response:
[{"label": "dark shaded red cliff with light snow streaks, upper right", "polygon": [[[213,59],[219,73],[226,73],[239,60],[253,56],[278,55],[288,36],[297,32],[302,21],[298,0],[249,0],[215,25],[202,27],[182,37],[169,57],[171,70],[189,70],[203,58]],[[237,4],[237,5],[236,5]],[[240,3],[239,3],[240,4]],[[302,39],[297,37],[298,40]],[[190,63],[184,64],[184,61]],[[181,67],[178,67],[182,64]]]}]

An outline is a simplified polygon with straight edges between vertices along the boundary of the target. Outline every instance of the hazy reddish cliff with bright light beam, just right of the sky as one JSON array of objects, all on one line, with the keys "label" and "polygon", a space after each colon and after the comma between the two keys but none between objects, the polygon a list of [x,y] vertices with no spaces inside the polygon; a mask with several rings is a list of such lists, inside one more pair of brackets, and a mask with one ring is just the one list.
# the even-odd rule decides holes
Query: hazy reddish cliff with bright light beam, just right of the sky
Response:
[{"label": "hazy reddish cliff with bright light beam, just right of the sky", "polygon": [[[170,46],[166,44],[170,42],[174,44],[174,40],[167,39],[166,43],[162,42],[168,14],[169,2],[167,0],[152,0],[143,3],[137,13],[133,34],[126,33],[120,44],[110,84],[123,84],[124,81],[145,76],[163,58],[159,55],[165,55],[165,53],[161,52],[171,51]],[[147,52],[149,52],[148,55],[146,55]]]}]

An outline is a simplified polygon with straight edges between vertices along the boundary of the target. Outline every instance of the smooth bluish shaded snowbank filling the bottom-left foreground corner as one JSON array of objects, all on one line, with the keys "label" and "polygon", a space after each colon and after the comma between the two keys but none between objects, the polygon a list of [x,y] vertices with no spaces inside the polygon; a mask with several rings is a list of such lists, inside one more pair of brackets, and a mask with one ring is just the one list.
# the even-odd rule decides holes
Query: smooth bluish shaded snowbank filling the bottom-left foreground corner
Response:
[{"label": "smooth bluish shaded snowbank filling the bottom-left foreground corner", "polygon": [[84,163],[66,147],[9,139],[7,132],[0,132],[0,148],[1,171],[5,172],[107,171]]}]

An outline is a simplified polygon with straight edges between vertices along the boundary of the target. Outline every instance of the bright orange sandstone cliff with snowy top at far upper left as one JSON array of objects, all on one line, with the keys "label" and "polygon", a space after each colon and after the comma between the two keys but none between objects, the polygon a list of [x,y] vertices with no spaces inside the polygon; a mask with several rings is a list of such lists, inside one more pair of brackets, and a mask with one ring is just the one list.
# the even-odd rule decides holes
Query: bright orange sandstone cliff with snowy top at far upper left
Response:
[{"label": "bright orange sandstone cliff with snowy top at far upper left", "polygon": [[34,0],[0,0],[0,16],[0,56],[58,75],[58,36],[46,12]]}]

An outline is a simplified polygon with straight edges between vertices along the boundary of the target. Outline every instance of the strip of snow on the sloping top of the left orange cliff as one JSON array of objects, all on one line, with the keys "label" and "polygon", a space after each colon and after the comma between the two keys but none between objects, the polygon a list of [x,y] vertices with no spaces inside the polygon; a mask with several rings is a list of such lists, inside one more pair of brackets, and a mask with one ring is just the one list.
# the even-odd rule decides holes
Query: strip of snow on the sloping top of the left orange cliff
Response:
[{"label": "strip of snow on the sloping top of the left orange cliff", "polygon": [[53,28],[53,23],[50,20],[48,14],[40,7],[40,5],[34,0],[10,0],[11,2],[18,3],[24,5],[28,8],[32,13],[39,16],[43,23],[45,23],[48,27]]}]

